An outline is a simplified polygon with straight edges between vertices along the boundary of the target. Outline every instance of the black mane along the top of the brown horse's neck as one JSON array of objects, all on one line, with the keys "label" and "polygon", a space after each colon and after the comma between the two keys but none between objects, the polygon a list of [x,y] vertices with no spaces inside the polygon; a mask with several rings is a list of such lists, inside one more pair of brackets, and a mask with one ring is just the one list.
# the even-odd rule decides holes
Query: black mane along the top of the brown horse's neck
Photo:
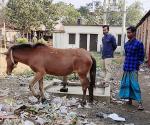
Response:
[{"label": "black mane along the top of the brown horse's neck", "polygon": [[37,47],[47,47],[45,44],[42,43],[36,43],[36,44],[20,44],[20,45],[14,45],[10,49],[31,49],[31,48],[37,48]]}]

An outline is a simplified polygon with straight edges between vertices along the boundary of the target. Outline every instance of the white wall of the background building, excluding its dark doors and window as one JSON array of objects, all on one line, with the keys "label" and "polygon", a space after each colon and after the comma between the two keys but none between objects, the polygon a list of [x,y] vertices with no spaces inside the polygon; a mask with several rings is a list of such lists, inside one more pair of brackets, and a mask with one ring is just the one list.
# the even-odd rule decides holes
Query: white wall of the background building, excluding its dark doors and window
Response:
[{"label": "white wall of the background building, excluding its dark doors and window", "polygon": [[[103,37],[102,26],[64,26],[64,30],[64,33],[53,33],[54,47],[79,48],[80,34],[87,34],[87,50],[89,51],[90,34],[98,34],[97,51],[100,51]],[[69,44],[70,33],[76,34],[75,44]],[[122,28],[118,26],[110,27],[110,33],[118,39],[118,34],[122,33]],[[120,46],[118,46],[117,51],[120,51]]]}]

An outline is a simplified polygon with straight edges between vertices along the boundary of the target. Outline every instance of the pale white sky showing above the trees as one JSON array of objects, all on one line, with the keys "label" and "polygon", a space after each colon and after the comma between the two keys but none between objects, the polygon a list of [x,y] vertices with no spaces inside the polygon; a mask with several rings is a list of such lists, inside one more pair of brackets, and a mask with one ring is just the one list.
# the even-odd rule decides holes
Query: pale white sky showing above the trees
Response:
[{"label": "pale white sky showing above the trees", "polygon": [[[75,5],[76,8],[86,5],[86,3],[92,2],[92,0],[54,0],[54,2],[59,2],[59,1],[72,3],[73,5]],[[100,0],[100,1],[103,1],[103,0]],[[126,1],[127,1],[127,5],[130,5],[131,3],[137,0],[126,0]],[[138,0],[138,1],[141,1],[141,3],[143,3],[143,8],[145,11],[150,10],[150,0]]]}]

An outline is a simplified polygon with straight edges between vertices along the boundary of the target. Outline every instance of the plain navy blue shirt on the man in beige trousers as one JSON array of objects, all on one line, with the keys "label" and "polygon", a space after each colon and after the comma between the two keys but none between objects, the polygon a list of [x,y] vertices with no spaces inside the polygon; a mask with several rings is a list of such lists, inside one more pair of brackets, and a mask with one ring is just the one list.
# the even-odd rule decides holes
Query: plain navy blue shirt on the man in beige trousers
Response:
[{"label": "plain navy blue shirt on the man in beige trousers", "polygon": [[113,58],[115,49],[117,48],[116,38],[111,34],[106,34],[102,38],[102,59]]}]

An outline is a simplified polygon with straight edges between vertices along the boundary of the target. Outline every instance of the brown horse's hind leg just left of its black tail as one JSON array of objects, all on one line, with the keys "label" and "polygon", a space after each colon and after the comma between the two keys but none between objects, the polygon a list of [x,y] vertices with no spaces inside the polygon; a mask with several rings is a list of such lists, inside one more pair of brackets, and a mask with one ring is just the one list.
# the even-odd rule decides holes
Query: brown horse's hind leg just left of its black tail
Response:
[{"label": "brown horse's hind leg just left of its black tail", "polygon": [[85,75],[79,75],[79,77],[80,77],[80,81],[82,84],[82,91],[83,91],[81,105],[84,106],[84,105],[86,105],[86,91],[87,91],[87,88],[89,87],[89,80]]}]

